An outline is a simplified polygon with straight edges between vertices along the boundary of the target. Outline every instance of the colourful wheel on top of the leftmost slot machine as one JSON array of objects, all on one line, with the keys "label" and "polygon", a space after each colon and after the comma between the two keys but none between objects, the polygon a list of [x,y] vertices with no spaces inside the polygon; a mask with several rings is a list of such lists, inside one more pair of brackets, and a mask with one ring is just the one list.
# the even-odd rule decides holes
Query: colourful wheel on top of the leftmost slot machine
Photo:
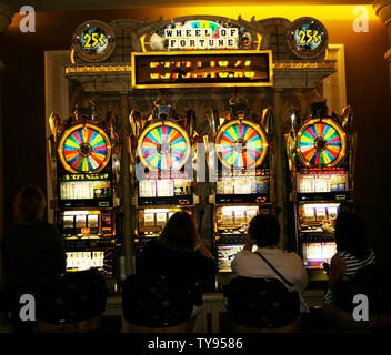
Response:
[{"label": "colourful wheel on top of the leftmost slot machine", "polygon": [[97,173],[109,162],[111,143],[102,129],[80,123],[67,129],[59,141],[58,156],[71,173]]}]

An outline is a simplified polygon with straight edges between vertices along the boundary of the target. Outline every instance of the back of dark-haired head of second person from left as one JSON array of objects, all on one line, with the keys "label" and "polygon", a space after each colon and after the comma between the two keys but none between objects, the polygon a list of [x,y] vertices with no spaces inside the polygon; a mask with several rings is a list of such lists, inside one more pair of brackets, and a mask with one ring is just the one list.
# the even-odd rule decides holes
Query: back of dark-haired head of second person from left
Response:
[{"label": "back of dark-haired head of second person from left", "polygon": [[159,241],[176,252],[193,252],[198,245],[196,223],[187,212],[176,212],[166,223]]}]

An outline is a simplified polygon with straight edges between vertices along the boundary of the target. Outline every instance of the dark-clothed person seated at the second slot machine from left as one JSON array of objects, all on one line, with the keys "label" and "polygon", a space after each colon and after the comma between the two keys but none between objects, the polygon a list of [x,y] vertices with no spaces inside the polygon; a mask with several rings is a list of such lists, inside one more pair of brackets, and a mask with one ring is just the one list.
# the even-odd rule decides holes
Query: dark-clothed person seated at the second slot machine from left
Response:
[{"label": "dark-clothed person seated at the second slot machine from left", "polygon": [[176,277],[179,283],[188,284],[194,297],[192,318],[197,318],[202,306],[202,292],[198,283],[215,273],[215,263],[201,242],[189,213],[176,212],[159,239],[143,247],[138,273]]}]

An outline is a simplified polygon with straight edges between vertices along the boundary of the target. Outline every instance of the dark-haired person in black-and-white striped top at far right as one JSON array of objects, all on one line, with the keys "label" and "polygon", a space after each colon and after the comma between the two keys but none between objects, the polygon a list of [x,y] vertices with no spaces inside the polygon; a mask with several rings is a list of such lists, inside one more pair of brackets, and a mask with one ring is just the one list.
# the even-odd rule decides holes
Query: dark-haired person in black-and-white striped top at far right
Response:
[{"label": "dark-haired person in black-and-white striped top at far right", "polygon": [[324,265],[329,273],[329,288],[324,303],[333,306],[332,290],[341,280],[353,277],[360,270],[375,264],[375,254],[370,247],[364,223],[353,212],[342,211],[335,221],[337,254],[330,265]]}]

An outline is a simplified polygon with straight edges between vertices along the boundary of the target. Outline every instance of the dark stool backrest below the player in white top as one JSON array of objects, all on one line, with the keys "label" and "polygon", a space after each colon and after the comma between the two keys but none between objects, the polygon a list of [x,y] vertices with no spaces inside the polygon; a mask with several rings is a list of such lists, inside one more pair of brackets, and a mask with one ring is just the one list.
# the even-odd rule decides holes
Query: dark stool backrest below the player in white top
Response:
[{"label": "dark stool backrest below the player in white top", "polygon": [[298,320],[300,300],[277,278],[235,277],[227,288],[233,322],[255,328],[278,328]]}]

